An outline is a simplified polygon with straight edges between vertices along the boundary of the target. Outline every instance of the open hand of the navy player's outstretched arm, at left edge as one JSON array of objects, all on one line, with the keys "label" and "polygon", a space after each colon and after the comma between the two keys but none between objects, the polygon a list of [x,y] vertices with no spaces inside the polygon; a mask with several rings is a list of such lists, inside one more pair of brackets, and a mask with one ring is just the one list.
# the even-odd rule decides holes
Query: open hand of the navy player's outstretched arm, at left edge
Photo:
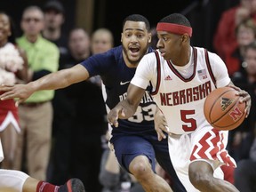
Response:
[{"label": "open hand of the navy player's outstretched arm, at left edge", "polygon": [[33,93],[28,84],[0,85],[0,100],[10,100],[17,98],[16,106],[24,102]]}]

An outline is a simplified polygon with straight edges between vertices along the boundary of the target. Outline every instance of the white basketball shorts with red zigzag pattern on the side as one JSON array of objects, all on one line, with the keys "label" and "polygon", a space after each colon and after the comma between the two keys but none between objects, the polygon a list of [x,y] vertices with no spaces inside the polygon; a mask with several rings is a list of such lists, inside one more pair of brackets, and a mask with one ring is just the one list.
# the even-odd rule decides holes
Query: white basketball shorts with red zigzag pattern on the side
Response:
[{"label": "white basketball shorts with red zigzag pattern on the side", "polygon": [[236,162],[226,150],[228,131],[202,127],[189,134],[172,134],[168,143],[173,167],[187,191],[198,191],[188,178],[188,166],[192,161],[207,162],[214,170],[214,177],[233,181]]}]

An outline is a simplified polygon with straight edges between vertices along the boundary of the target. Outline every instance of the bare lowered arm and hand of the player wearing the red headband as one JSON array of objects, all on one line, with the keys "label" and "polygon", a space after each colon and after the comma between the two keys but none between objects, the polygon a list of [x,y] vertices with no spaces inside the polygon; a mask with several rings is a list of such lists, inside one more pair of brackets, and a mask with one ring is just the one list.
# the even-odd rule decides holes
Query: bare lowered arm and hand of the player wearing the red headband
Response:
[{"label": "bare lowered arm and hand of the player wearing the red headband", "polygon": [[135,113],[145,90],[130,84],[127,90],[127,98],[120,101],[115,108],[108,113],[108,123],[118,126],[118,118],[127,119]]}]

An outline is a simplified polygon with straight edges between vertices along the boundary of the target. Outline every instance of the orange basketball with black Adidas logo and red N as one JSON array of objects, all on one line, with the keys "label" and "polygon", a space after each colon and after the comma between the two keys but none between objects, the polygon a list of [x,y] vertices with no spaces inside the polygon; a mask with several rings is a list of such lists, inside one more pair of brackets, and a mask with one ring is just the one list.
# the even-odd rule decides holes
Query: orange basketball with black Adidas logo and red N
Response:
[{"label": "orange basketball with black Adidas logo and red N", "polygon": [[204,116],[218,130],[233,130],[243,123],[245,103],[240,103],[232,87],[221,87],[210,92],[204,100]]}]

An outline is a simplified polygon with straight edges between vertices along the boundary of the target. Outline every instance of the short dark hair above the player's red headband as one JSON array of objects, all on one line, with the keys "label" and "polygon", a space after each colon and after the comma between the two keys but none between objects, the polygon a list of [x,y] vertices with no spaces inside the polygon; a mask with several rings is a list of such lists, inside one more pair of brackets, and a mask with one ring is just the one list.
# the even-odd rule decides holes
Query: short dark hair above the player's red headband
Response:
[{"label": "short dark hair above the player's red headband", "polygon": [[179,24],[179,25],[183,25],[191,28],[191,24],[189,20],[180,13],[172,13],[164,17],[159,22],[174,23],[174,24]]}]

